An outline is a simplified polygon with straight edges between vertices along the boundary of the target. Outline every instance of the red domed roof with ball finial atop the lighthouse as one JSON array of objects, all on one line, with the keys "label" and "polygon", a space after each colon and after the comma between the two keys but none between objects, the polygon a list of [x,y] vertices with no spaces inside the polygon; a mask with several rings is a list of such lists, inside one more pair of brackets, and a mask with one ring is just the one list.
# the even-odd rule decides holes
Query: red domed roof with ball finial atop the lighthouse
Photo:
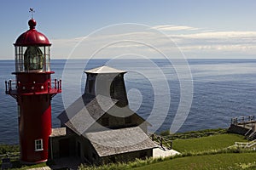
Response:
[{"label": "red domed roof with ball finial atop the lighthouse", "polygon": [[15,42],[15,46],[50,46],[49,39],[43,33],[37,31],[36,20],[29,20],[30,29],[20,35]]}]

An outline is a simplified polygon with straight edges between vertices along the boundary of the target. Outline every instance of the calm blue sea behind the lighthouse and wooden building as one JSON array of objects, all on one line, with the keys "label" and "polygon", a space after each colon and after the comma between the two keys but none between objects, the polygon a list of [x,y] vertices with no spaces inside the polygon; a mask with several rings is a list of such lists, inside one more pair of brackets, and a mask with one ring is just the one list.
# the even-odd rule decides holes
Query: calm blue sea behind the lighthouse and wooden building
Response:
[{"label": "calm blue sea behind the lighthouse and wooden building", "polygon": [[[165,59],[154,59],[155,65],[137,59],[119,59],[114,62],[93,59],[85,69],[106,63],[128,71],[125,85],[131,109],[147,119],[156,108],[159,111],[158,118],[163,120],[157,132],[169,129],[180,100],[180,79],[172,64]],[[52,60],[51,70],[55,71],[52,78],[62,78],[64,65],[65,60]],[[62,95],[69,96],[65,99],[69,105],[84,90],[86,75],[81,65],[84,67],[84,60],[73,60],[68,67],[71,71],[65,72],[68,79],[63,80],[65,95],[57,94],[52,100],[53,127],[60,126],[56,116],[64,110]],[[231,117],[256,114],[256,59],[190,59],[189,67],[194,85],[193,102],[179,132],[228,127]],[[7,144],[19,142],[16,101],[5,94],[4,86],[5,80],[15,79],[11,75],[14,69],[13,60],[0,60],[0,143]],[[79,72],[79,81],[76,81],[76,72]],[[165,81],[170,87],[170,102],[166,101],[166,91],[163,90]],[[166,114],[161,113],[166,110],[165,102],[170,106]]]}]

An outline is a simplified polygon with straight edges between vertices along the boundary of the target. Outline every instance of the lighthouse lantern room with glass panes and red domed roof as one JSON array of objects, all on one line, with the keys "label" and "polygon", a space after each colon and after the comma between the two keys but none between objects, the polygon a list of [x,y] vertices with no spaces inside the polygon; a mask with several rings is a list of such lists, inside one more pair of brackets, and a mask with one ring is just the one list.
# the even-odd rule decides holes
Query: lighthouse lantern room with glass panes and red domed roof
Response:
[{"label": "lighthouse lantern room with glass panes and red domed roof", "polygon": [[29,20],[28,31],[15,42],[15,73],[50,71],[50,43],[47,37],[38,32],[36,20]]}]

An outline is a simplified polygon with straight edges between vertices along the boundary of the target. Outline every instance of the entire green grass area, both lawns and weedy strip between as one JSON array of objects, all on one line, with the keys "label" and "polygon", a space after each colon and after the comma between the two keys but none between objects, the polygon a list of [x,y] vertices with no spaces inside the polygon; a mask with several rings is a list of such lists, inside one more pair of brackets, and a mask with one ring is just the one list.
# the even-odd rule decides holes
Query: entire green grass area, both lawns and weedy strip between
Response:
[{"label": "entire green grass area, both lawns and weedy strip between", "polygon": [[[148,158],[128,163],[103,165],[102,167],[81,167],[95,169],[256,169],[256,152],[238,148],[226,149],[235,142],[247,142],[243,136],[224,133],[196,139],[177,139],[173,149],[179,156],[167,158]],[[247,168],[245,168],[247,167]]]}]

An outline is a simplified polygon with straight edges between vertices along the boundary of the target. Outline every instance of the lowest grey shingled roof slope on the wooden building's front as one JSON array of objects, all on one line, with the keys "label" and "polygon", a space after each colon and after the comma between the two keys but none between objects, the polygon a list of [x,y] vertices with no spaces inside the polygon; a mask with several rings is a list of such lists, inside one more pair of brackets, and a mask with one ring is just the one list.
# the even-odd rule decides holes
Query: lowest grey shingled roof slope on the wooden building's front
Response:
[{"label": "lowest grey shingled roof slope on the wooden building's front", "polygon": [[157,147],[141,127],[85,133],[99,156],[112,156]]}]

